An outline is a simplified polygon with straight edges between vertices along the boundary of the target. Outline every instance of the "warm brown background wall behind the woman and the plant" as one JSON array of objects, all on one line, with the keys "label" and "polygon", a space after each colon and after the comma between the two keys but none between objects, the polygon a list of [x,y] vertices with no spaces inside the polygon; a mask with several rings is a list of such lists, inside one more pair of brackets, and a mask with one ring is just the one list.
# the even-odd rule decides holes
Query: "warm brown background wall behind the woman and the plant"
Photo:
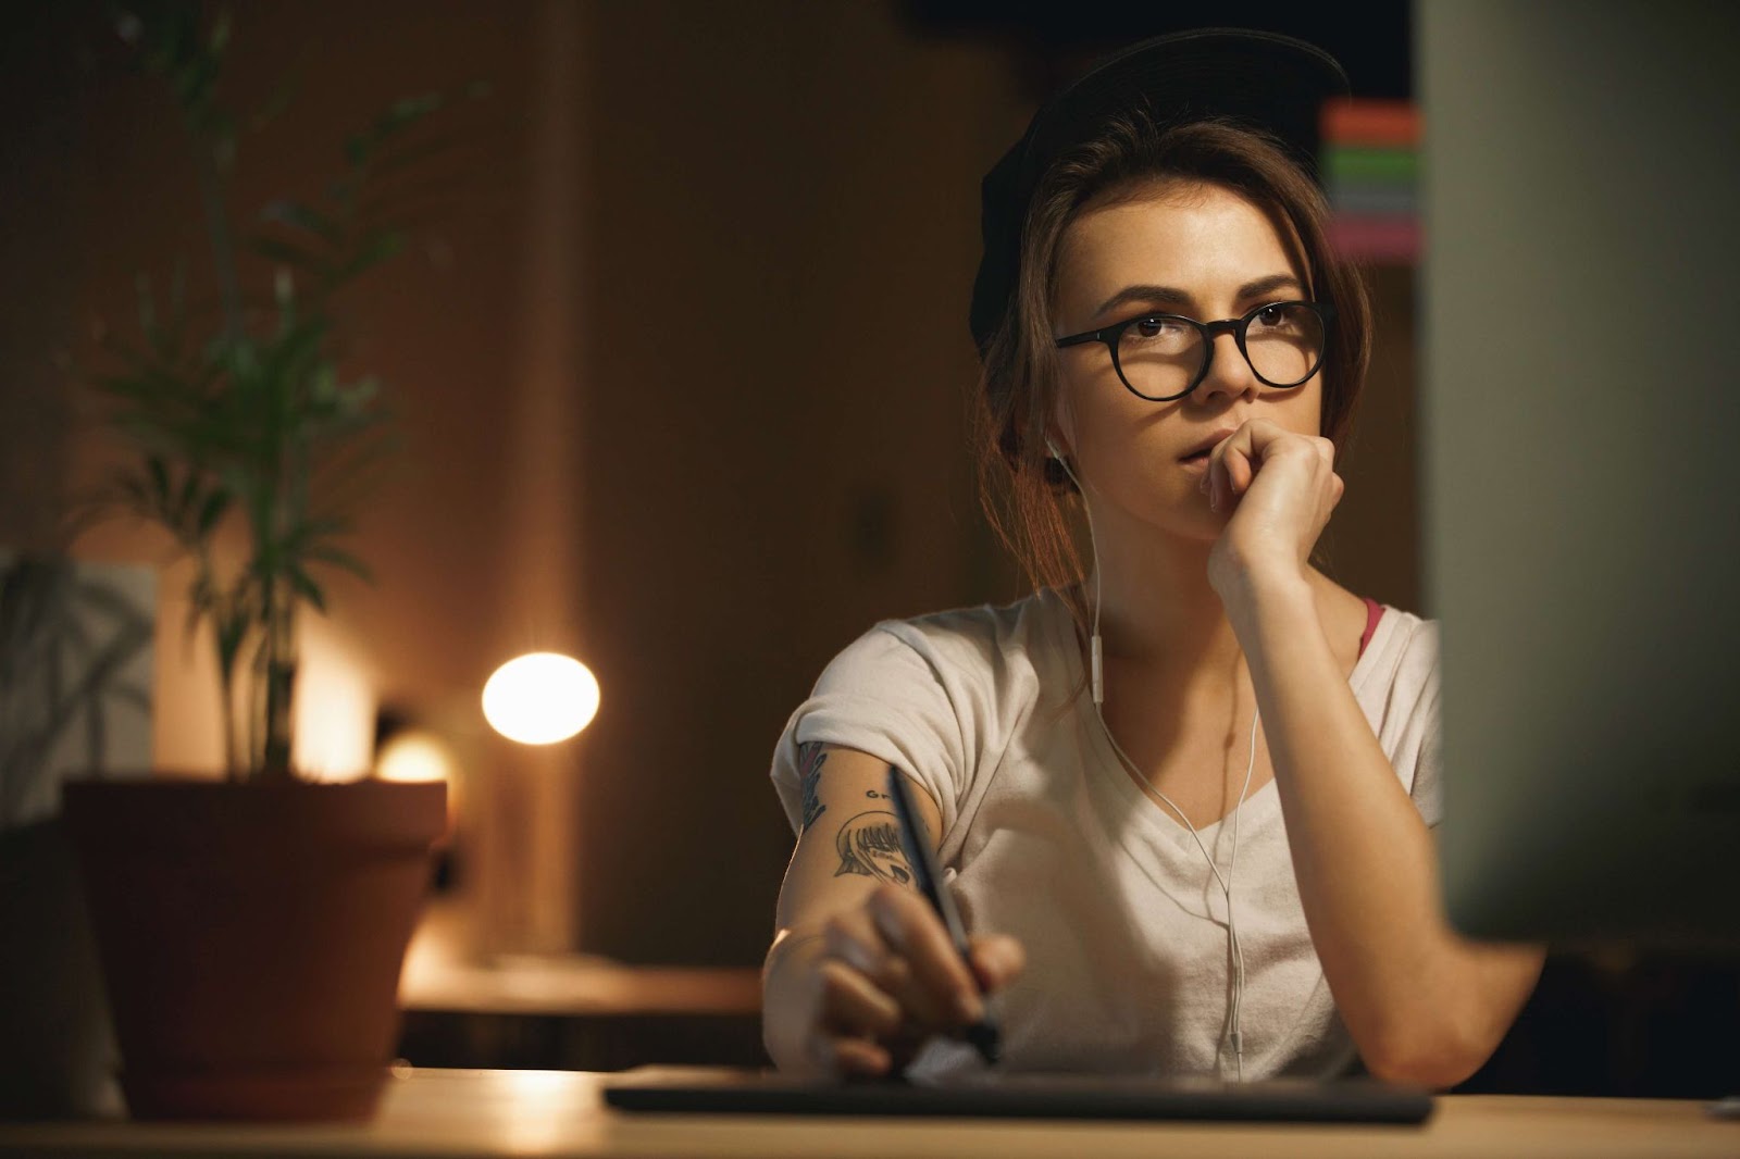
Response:
[{"label": "warm brown background wall behind the woman and the plant", "polygon": [[[244,200],[392,96],[498,89],[465,118],[475,160],[432,245],[357,301],[357,364],[390,383],[407,452],[360,543],[379,586],[332,592],[381,698],[452,733],[487,790],[470,853],[492,945],[759,961],[792,841],[767,760],[816,673],[879,618],[1020,593],[962,437],[978,179],[1025,122],[1014,66],[919,44],[893,5],[797,0],[285,0],[244,5],[237,44],[251,85],[294,45],[310,77],[285,125],[308,143],[258,158]],[[132,89],[9,84],[77,132],[5,146],[0,211],[31,223],[0,268],[0,358],[28,386],[7,416],[54,411],[47,353],[197,240],[172,224],[174,127]],[[1335,559],[1413,606],[1411,280],[1382,282]],[[40,534],[64,477],[38,454],[21,482],[17,461],[0,538]],[[552,644],[593,667],[604,710],[527,760],[475,696]],[[197,764],[204,677],[172,632],[158,656],[160,762]]]}]

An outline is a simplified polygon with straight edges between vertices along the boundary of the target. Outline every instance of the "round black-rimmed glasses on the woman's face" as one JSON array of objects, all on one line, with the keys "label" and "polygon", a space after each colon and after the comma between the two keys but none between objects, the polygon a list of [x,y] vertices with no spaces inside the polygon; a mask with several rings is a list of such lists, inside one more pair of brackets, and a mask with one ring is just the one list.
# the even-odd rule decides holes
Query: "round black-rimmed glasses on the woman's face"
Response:
[{"label": "round black-rimmed glasses on the woman's face", "polygon": [[1239,353],[1265,386],[1298,386],[1322,365],[1335,306],[1326,301],[1272,301],[1242,318],[1197,322],[1178,313],[1143,313],[1086,334],[1058,339],[1058,350],[1105,343],[1124,386],[1148,402],[1171,402],[1195,390],[1215,360],[1215,338],[1232,334]]}]

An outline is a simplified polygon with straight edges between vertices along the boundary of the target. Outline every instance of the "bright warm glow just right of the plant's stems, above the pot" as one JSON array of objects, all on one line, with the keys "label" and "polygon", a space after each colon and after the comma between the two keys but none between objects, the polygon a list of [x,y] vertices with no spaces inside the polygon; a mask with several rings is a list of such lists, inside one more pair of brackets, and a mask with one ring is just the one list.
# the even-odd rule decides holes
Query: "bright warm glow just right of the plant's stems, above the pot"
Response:
[{"label": "bright warm glow just right of the plant's stems, above the pot", "polygon": [[376,694],[369,673],[338,633],[301,616],[291,764],[318,781],[353,781],[374,762]]}]

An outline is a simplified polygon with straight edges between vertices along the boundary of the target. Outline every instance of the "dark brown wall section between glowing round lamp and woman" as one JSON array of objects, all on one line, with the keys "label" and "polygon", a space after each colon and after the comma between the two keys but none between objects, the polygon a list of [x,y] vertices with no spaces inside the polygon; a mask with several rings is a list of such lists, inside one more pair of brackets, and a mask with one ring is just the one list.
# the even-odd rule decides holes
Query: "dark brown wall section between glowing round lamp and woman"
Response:
[{"label": "dark brown wall section between glowing round lamp and woman", "polygon": [[585,914],[630,954],[746,961],[790,853],[786,715],[875,620],[990,595],[964,287],[1013,120],[994,54],[879,5],[604,5],[597,30],[658,59],[597,61],[583,522],[618,710],[586,748]]}]

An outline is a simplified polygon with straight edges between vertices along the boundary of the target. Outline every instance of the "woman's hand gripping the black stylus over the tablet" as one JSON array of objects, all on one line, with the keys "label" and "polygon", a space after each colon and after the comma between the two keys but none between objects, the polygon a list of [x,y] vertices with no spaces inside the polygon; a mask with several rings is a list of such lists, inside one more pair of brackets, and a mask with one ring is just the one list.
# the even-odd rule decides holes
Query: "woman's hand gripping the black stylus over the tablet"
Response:
[{"label": "woman's hand gripping the black stylus over the tablet", "polygon": [[894,884],[818,926],[780,931],[762,971],[767,1053],[804,1075],[903,1069],[933,1035],[959,1035],[983,1018],[981,987],[995,994],[1027,964],[1007,935],[969,945],[971,973],[936,910]]}]

